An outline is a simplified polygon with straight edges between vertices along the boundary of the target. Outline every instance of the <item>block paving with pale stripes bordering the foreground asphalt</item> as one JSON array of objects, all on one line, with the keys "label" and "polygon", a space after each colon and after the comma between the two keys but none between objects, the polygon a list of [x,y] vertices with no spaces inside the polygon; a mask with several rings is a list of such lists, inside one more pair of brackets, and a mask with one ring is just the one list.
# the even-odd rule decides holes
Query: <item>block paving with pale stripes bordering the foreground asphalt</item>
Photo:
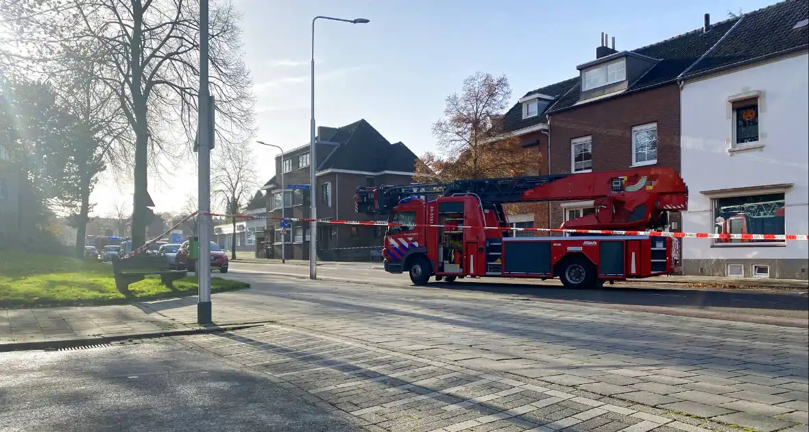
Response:
[{"label": "block paving with pale stripes bordering the foreground asphalt", "polygon": [[[348,413],[370,431],[739,431],[728,425],[746,415],[697,419],[556,383],[282,325],[176,339],[263,371],[276,382]],[[771,431],[794,425],[779,421],[748,429]],[[805,426],[789,429],[802,430]]]}]

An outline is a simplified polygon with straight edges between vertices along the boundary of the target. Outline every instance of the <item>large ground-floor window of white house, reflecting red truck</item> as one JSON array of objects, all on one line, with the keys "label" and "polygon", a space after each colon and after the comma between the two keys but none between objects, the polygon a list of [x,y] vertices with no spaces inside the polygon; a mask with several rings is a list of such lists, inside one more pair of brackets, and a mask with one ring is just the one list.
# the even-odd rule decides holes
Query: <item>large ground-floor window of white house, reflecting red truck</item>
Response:
[{"label": "large ground-floor window of white house, reflecting red truck", "polygon": [[[714,233],[780,234],[784,224],[784,194],[768,193],[714,199]],[[783,240],[714,239],[714,244],[779,244]]]}]

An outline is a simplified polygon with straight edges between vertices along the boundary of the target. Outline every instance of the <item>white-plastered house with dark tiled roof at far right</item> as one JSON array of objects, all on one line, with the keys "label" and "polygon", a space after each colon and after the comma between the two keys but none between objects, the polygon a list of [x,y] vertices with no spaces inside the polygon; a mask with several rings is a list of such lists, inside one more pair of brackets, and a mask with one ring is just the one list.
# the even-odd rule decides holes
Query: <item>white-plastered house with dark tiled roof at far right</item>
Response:
[{"label": "white-plastered house with dark tiled roof at far right", "polygon": [[[682,78],[684,231],[809,232],[807,32],[806,2],[770,6]],[[804,241],[683,243],[686,274],[807,279],[807,257]]]}]

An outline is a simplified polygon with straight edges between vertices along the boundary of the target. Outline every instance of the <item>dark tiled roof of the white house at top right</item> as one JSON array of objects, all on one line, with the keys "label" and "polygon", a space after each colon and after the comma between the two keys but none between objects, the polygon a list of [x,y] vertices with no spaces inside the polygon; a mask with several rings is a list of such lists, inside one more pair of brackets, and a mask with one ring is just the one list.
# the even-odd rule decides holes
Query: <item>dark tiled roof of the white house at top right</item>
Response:
[{"label": "dark tiled roof of the white house at top right", "polygon": [[809,17],[806,0],[787,0],[743,15],[739,25],[685,76],[730,67],[775,53],[806,47],[809,26],[794,28]]}]

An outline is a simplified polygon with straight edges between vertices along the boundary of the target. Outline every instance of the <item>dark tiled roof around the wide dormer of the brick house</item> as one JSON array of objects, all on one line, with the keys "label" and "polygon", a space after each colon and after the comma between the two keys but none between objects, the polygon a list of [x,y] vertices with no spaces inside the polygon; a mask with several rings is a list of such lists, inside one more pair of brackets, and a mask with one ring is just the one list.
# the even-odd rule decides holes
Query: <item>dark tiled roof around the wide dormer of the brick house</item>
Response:
[{"label": "dark tiled roof around the wide dormer of the brick house", "polygon": [[[646,74],[642,74],[634,83],[630,83],[626,91],[617,93],[616,96],[674,82],[684,70],[687,70],[689,66],[693,65],[705,52],[714,46],[738,20],[738,18],[732,18],[715,23],[707,33],[700,28],[656,44],[633,49],[633,53],[652,57],[659,61],[650,70],[646,71]],[[571,108],[578,102],[582,88],[579,80],[580,78],[576,78],[575,85],[557,104],[554,104],[548,110],[549,113]]]}]

